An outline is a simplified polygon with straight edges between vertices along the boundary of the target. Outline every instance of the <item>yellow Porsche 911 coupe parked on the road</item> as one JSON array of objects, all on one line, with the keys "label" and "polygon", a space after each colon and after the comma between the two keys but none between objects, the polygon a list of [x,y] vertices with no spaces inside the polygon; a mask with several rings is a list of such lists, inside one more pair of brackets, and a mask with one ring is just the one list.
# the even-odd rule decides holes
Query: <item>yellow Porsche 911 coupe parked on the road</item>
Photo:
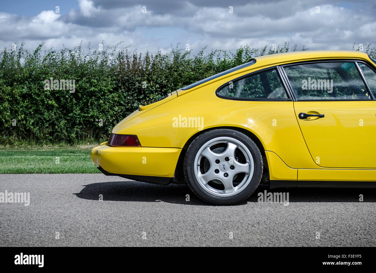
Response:
[{"label": "yellow Porsche 911 coupe parked on the road", "polygon": [[376,183],[376,63],[355,51],[261,56],[121,120],[91,158],[106,175],[187,183],[202,200]]}]

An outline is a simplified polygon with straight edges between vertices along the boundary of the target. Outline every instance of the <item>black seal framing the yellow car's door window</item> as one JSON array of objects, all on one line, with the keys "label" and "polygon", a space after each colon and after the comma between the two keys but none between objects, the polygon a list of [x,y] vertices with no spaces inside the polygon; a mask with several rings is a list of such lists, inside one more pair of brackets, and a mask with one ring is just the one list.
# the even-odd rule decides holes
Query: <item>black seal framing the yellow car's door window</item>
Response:
[{"label": "black seal framing the yellow car's door window", "polygon": [[[352,59],[352,58],[346,59],[346,58],[344,58],[344,59],[320,59],[320,60],[310,60],[310,61],[297,61],[297,62],[294,62],[294,63],[288,63],[288,64],[282,64],[282,65],[280,65],[280,68],[281,68],[281,70],[283,71],[283,73],[284,73],[284,75],[286,77],[287,85],[289,86],[289,88],[291,88],[291,92],[294,94],[294,101],[374,101],[373,96],[371,96],[371,99],[299,99],[298,100],[296,98],[296,94],[295,94],[293,88],[291,87],[291,83],[288,80],[287,74],[285,72],[285,67],[298,66],[298,65],[301,65],[301,64],[334,63],[334,62],[338,62],[338,63],[343,63],[343,62],[356,63],[356,62],[360,62],[360,63],[367,64],[367,62],[365,62],[362,59]],[[368,93],[369,93],[369,91],[368,91]]]}]

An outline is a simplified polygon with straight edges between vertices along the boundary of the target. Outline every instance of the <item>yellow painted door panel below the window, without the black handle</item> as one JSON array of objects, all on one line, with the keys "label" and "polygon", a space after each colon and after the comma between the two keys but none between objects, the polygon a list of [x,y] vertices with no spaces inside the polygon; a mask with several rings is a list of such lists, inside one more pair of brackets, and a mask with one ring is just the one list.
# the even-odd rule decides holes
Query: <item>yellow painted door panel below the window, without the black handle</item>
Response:
[{"label": "yellow painted door panel below the window, without the black handle", "polygon": [[[297,101],[294,110],[312,159],[327,168],[376,168],[375,101]],[[324,114],[300,119],[299,113]]]}]

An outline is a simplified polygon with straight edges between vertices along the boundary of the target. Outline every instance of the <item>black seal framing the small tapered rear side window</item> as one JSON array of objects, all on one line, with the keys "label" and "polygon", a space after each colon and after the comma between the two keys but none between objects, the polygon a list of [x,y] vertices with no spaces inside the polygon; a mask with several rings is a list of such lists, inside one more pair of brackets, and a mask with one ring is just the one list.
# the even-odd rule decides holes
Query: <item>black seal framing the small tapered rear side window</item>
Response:
[{"label": "black seal framing the small tapered rear side window", "polygon": [[[263,72],[267,72],[269,70],[276,70],[277,71],[277,74],[278,74],[278,77],[279,77],[279,80],[282,84],[282,86],[284,87],[285,89],[285,92],[286,92],[286,95],[288,98],[286,99],[255,99],[255,98],[232,98],[232,97],[227,97],[227,96],[221,96],[221,95],[218,95],[218,92],[226,87],[227,85],[229,85],[229,82],[235,82],[235,81],[240,81],[241,79],[244,79],[244,78],[247,78],[247,77],[250,77],[250,76],[253,76],[253,75],[257,75],[259,73],[263,73]],[[290,96],[290,93],[286,90],[286,85],[284,84],[284,81],[282,81],[282,78],[281,78],[281,75],[277,69],[277,66],[271,66],[271,67],[267,67],[267,68],[264,68],[264,69],[260,69],[260,70],[257,70],[257,71],[254,71],[254,72],[251,72],[251,73],[248,73],[246,75],[242,75],[238,78],[235,78],[235,79],[232,79],[230,81],[227,81],[226,83],[222,84],[220,87],[218,87],[216,90],[215,90],[215,95],[218,97],[218,98],[221,98],[221,99],[229,99],[229,100],[232,100],[232,101],[293,101],[291,99],[291,96]]]}]

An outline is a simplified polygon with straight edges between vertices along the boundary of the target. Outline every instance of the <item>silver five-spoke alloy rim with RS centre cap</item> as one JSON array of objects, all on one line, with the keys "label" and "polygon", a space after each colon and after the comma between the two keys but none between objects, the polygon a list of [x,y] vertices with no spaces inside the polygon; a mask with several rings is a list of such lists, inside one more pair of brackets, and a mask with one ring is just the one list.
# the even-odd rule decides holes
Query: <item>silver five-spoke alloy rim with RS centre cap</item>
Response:
[{"label": "silver five-spoke alloy rim with RS centre cap", "polygon": [[[224,151],[216,153],[211,147],[218,145],[227,145],[227,147]],[[245,163],[236,160],[235,154],[239,154],[239,151]],[[202,173],[203,158],[208,160],[210,166]],[[218,197],[229,197],[240,193],[249,185],[253,176],[252,154],[242,142],[232,137],[216,137],[206,142],[197,152],[194,163],[194,173],[200,186],[206,192]],[[234,185],[233,180],[238,174],[244,174],[244,177]],[[215,187],[214,184],[218,185],[215,181],[220,181],[224,189]]]}]

